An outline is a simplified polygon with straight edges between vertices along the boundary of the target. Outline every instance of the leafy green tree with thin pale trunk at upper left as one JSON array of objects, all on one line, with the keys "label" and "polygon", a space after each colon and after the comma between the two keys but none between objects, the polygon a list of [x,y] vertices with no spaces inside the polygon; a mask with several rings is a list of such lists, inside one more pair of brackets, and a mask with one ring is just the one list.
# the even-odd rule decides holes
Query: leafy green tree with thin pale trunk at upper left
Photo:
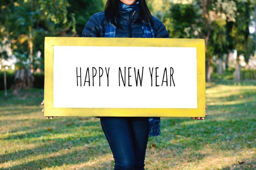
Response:
[{"label": "leafy green tree with thin pale trunk at upper left", "polygon": [[17,56],[28,51],[31,73],[34,72],[34,51],[43,53],[44,35],[75,32],[74,15],[68,15],[68,6],[67,0],[11,0],[2,5],[4,10],[0,14],[4,16],[5,37],[12,42]]}]

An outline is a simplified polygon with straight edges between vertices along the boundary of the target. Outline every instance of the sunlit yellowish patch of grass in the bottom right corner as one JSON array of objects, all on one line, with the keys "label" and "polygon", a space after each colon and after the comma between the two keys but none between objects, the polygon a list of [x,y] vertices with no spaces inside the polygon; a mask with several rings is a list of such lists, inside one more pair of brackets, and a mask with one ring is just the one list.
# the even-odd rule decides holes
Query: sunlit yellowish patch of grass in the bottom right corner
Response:
[{"label": "sunlit yellowish patch of grass in the bottom right corner", "polygon": [[[255,149],[246,150],[245,152],[232,152],[232,151],[216,151],[211,148],[204,148],[198,152],[193,152],[191,159],[191,150],[185,150],[181,155],[171,157],[173,155],[171,150],[164,150],[163,152],[151,152],[150,158],[146,157],[147,170],[220,170],[222,167],[229,167],[233,164],[238,164],[238,161],[249,161],[255,155]],[[159,158],[157,163],[154,162],[155,158]],[[161,160],[161,161],[159,161]],[[151,162],[153,161],[153,163]],[[164,162],[164,165],[163,163]],[[156,166],[157,164],[157,166]],[[239,166],[239,165],[237,165]],[[251,167],[253,167],[252,165]],[[159,168],[162,167],[162,168]],[[170,168],[171,167],[171,168]]]}]

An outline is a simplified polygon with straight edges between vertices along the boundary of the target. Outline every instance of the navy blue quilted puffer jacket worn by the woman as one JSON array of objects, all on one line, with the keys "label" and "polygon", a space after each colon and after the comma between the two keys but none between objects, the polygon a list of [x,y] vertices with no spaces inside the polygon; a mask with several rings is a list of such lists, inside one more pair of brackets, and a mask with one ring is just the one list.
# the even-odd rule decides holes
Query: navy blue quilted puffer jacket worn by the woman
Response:
[{"label": "navy blue quilted puffer jacket worn by the woman", "polygon": [[[132,16],[133,15],[133,16]],[[120,13],[122,29],[117,28],[117,38],[143,38],[144,31],[139,21],[139,10]],[[155,38],[170,38],[164,24],[153,16],[153,30]],[[106,26],[105,13],[99,12],[92,15],[85,24],[81,37],[104,37]]]}]

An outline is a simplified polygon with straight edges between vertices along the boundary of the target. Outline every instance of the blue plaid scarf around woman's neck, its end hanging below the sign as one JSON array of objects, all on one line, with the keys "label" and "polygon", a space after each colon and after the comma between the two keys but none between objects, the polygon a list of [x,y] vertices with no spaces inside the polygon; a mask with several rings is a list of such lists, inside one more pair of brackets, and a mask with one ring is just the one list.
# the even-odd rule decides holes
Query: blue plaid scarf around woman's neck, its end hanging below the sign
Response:
[{"label": "blue plaid scarf around woman's neck, its end hanging below the sign", "polygon": [[[132,4],[132,5],[126,5],[119,1],[119,8],[121,13],[136,11],[139,9],[139,1],[137,1],[135,4]],[[143,35],[144,38],[155,38],[154,31],[149,21],[148,21],[148,25],[146,25],[145,22],[143,21],[143,25],[141,27],[144,30],[144,35]],[[114,24],[112,24],[111,21],[109,21],[104,37],[115,38],[116,32],[117,32],[117,27],[115,27]],[[160,117],[149,117],[148,122],[149,122],[148,136],[161,135]]]}]

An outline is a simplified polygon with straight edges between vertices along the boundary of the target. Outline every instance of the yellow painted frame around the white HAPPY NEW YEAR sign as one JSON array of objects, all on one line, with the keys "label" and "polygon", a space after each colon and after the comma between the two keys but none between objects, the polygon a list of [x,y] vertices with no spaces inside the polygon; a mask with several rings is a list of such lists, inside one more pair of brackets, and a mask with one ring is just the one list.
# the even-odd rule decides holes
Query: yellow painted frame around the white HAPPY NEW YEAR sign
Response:
[{"label": "yellow painted frame around the white HAPPY NEW YEAR sign", "polygon": [[[54,108],[54,46],[154,46],[196,47],[198,108]],[[205,117],[205,44],[203,39],[170,38],[45,38],[45,113],[44,116],[113,117]]]}]

